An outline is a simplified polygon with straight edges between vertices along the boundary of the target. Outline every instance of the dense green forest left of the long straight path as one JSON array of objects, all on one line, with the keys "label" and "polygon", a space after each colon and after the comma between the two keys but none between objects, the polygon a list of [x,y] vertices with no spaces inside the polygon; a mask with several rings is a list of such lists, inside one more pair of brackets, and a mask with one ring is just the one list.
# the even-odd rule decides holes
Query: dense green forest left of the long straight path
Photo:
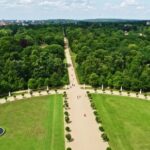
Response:
[{"label": "dense green forest left of the long straight path", "polygon": [[0,28],[0,95],[68,83],[61,26]]}]

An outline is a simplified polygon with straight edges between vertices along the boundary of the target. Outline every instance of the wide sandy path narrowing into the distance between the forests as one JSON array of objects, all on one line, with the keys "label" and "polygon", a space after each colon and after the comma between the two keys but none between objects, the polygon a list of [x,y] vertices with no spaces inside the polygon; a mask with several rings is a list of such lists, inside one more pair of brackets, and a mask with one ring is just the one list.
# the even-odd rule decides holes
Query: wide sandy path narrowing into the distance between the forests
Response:
[{"label": "wide sandy path narrowing into the distance between the forests", "polygon": [[67,147],[69,146],[73,150],[106,150],[108,144],[101,138],[87,94],[77,82],[66,38],[65,43],[65,55],[67,63],[70,65],[68,67],[70,85],[67,90],[68,102],[71,108],[69,110],[72,121],[70,128],[74,139],[73,142],[67,143]]}]

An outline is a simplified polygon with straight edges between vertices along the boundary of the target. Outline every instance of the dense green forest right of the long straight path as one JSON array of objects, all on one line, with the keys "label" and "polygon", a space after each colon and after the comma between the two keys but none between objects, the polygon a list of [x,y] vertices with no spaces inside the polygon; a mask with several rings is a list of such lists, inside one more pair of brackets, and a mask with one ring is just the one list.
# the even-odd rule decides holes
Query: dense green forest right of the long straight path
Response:
[{"label": "dense green forest right of the long straight path", "polygon": [[150,91],[150,26],[105,23],[68,26],[81,83]]}]

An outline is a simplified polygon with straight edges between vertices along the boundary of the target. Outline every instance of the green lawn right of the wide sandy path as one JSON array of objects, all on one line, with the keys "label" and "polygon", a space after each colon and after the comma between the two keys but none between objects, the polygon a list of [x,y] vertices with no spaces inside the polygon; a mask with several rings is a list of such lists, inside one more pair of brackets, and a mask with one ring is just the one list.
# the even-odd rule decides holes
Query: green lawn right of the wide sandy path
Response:
[{"label": "green lawn right of the wide sandy path", "polygon": [[150,102],[93,94],[112,150],[150,150]]}]

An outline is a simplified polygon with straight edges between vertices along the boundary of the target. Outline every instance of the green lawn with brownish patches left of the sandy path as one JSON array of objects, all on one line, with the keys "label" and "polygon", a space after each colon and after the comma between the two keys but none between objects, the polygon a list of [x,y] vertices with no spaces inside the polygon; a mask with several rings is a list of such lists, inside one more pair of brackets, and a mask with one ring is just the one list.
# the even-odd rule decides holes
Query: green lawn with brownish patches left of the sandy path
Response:
[{"label": "green lawn with brownish patches left of the sandy path", "polygon": [[62,95],[0,105],[0,150],[65,150]]}]

